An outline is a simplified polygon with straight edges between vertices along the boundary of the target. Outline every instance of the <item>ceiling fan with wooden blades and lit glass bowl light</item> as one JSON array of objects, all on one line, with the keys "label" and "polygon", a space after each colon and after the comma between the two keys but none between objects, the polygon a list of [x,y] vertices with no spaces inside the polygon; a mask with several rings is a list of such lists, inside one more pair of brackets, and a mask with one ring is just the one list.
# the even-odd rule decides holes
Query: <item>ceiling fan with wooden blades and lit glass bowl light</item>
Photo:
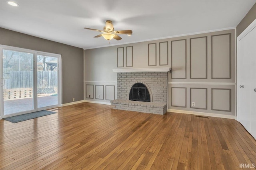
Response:
[{"label": "ceiling fan with wooden blades and lit glass bowl light", "polygon": [[90,29],[93,31],[99,31],[102,32],[102,34],[100,35],[96,35],[94,38],[98,38],[98,37],[104,37],[104,39],[106,40],[111,40],[111,39],[116,39],[116,40],[120,40],[122,39],[119,35],[117,34],[127,34],[128,36],[132,35],[132,30],[118,30],[118,31],[114,31],[114,27],[113,27],[113,23],[110,20],[106,20],[106,25],[103,28],[103,31],[98,30],[98,29],[92,29],[92,28],[84,28],[84,29]]}]

